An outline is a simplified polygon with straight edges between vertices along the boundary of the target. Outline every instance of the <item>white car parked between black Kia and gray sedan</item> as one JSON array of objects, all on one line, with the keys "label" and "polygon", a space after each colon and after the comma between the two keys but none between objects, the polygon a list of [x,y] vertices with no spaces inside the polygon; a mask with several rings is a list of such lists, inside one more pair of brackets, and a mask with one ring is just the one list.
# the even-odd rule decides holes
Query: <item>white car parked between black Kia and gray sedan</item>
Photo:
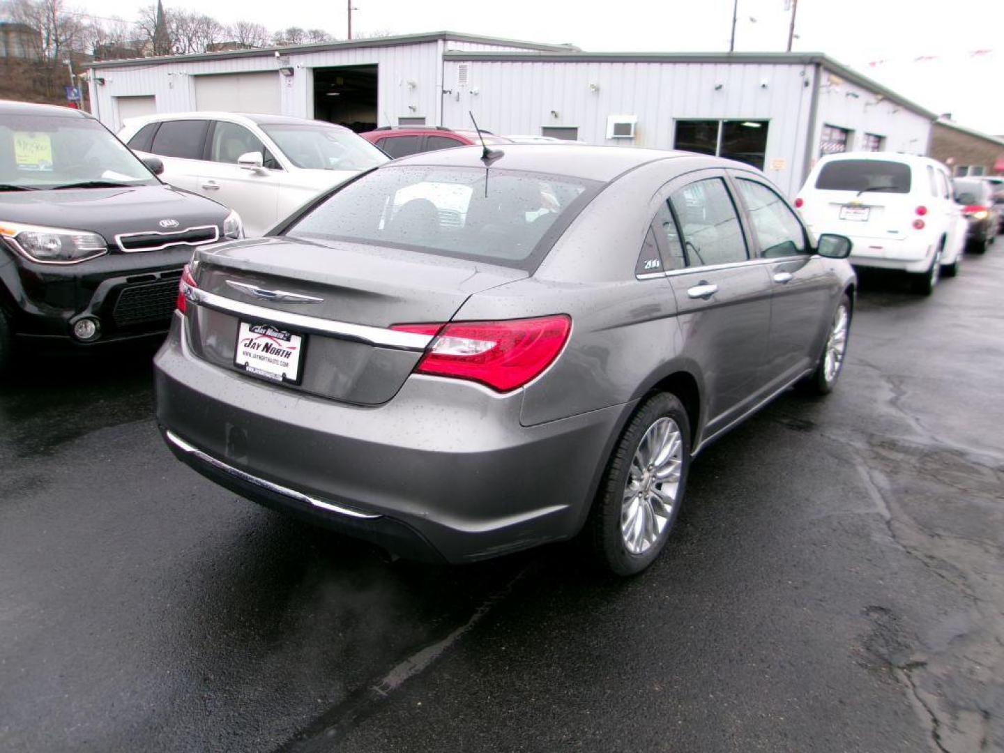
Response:
[{"label": "white car parked between black Kia and gray sedan", "polygon": [[284,115],[147,115],[126,120],[118,138],[140,157],[160,158],[166,183],[236,210],[249,236],[389,159],[348,129]]}]

